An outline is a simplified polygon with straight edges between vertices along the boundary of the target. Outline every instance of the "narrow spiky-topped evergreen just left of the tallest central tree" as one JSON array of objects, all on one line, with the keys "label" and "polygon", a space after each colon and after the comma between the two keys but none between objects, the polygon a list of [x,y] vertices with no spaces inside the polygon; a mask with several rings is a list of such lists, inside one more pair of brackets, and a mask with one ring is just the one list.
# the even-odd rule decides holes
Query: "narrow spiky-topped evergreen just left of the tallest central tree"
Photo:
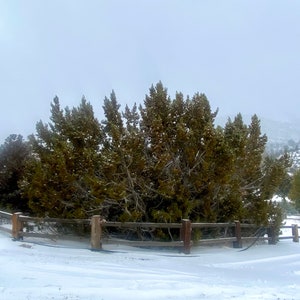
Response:
[{"label": "narrow spiky-topped evergreen just left of the tallest central tree", "polygon": [[[101,151],[101,167],[106,186],[107,199],[113,204],[108,214],[110,219],[122,221],[142,220],[145,215],[144,185],[144,140],[139,130],[137,106],[125,107],[120,112],[114,91],[110,99],[104,99],[102,121],[105,143]],[[124,125],[124,121],[126,124]]]}]

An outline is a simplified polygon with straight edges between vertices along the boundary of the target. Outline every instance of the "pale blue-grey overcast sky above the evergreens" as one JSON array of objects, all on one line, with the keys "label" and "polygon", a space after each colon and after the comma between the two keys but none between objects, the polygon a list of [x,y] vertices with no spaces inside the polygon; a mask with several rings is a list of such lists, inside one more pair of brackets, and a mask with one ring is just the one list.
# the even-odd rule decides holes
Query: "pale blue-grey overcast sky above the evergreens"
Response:
[{"label": "pale blue-grey overcast sky above the evergreens", "polygon": [[85,95],[97,117],[162,81],[219,115],[300,120],[300,1],[0,0],[0,143]]}]

